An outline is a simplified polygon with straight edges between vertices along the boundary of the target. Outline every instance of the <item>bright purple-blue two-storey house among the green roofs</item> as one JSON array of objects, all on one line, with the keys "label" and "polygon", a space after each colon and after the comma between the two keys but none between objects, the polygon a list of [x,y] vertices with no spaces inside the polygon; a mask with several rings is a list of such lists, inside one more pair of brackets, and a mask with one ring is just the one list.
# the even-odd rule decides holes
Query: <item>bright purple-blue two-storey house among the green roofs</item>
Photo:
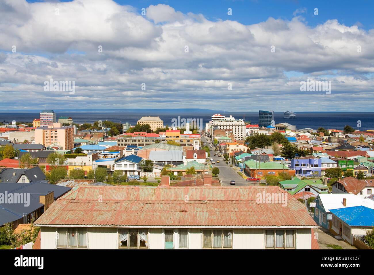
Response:
[{"label": "bright purple-blue two-storey house among the green roofs", "polygon": [[289,168],[296,171],[301,177],[321,177],[322,161],[314,156],[305,156],[291,160]]}]

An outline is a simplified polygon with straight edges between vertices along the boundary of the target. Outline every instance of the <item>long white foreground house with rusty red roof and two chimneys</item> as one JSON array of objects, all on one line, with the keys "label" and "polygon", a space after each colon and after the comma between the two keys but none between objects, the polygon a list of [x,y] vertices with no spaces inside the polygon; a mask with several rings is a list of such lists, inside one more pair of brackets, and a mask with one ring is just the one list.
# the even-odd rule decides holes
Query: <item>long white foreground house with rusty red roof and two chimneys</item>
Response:
[{"label": "long white foreground house with rusty red roof and two chimneys", "polygon": [[312,248],[317,224],[278,186],[161,184],[74,188],[36,220],[41,249]]}]

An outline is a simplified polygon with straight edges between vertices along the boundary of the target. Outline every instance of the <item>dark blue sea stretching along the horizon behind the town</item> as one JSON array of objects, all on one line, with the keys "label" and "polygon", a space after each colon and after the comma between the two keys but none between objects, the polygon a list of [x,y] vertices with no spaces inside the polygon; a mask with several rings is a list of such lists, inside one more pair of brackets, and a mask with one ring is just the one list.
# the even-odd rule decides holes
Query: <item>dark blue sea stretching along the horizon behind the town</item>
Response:
[{"label": "dark blue sea stretching along the horizon behind the town", "polygon": [[[56,119],[60,116],[72,117],[74,123],[92,123],[96,120],[110,120],[114,122],[126,123],[129,122],[131,125],[135,125],[142,116],[159,116],[164,125],[172,125],[172,119],[202,119],[203,128],[205,123],[209,122],[213,113],[201,112],[201,111],[152,111],[146,112],[140,111],[80,111],[80,112],[56,112]],[[222,113],[221,113],[222,114]],[[229,113],[226,112],[225,116],[230,114],[236,119],[245,119],[246,122],[252,124],[258,123],[258,112],[248,113]],[[301,128],[313,128],[324,127],[325,129],[343,129],[345,125],[350,125],[353,128],[368,130],[374,129],[374,113],[373,112],[362,112],[362,113],[296,113],[296,119],[284,119],[283,113],[275,113],[275,123],[288,122],[292,125],[296,125],[297,129]],[[32,122],[34,118],[39,118],[39,113],[0,113],[1,122],[11,122],[16,120],[18,122]],[[358,127],[361,122],[361,128]]]}]

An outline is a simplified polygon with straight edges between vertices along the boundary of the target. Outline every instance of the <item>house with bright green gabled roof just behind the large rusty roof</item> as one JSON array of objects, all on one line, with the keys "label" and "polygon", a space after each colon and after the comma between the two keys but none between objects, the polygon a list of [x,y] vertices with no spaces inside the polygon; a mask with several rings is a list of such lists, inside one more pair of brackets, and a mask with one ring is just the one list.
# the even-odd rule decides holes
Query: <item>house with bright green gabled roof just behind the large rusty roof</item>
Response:
[{"label": "house with bright green gabled roof just behind the large rusty roof", "polygon": [[279,181],[277,185],[291,195],[310,192],[317,196],[318,194],[328,193],[328,186],[322,184],[319,180],[300,180],[300,178],[295,177],[292,180]]}]

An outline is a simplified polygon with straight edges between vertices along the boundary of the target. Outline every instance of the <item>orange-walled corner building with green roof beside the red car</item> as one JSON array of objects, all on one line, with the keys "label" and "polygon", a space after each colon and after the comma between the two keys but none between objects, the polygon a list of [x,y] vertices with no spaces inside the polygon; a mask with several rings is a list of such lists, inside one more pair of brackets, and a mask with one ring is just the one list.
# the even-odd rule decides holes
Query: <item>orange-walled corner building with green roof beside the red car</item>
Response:
[{"label": "orange-walled corner building with green roof beside the red car", "polygon": [[295,175],[295,170],[290,169],[287,165],[284,165],[277,161],[255,161],[249,159],[244,162],[245,173],[251,177],[259,177],[264,179],[268,175],[279,175],[279,173],[286,172],[291,176]]}]

